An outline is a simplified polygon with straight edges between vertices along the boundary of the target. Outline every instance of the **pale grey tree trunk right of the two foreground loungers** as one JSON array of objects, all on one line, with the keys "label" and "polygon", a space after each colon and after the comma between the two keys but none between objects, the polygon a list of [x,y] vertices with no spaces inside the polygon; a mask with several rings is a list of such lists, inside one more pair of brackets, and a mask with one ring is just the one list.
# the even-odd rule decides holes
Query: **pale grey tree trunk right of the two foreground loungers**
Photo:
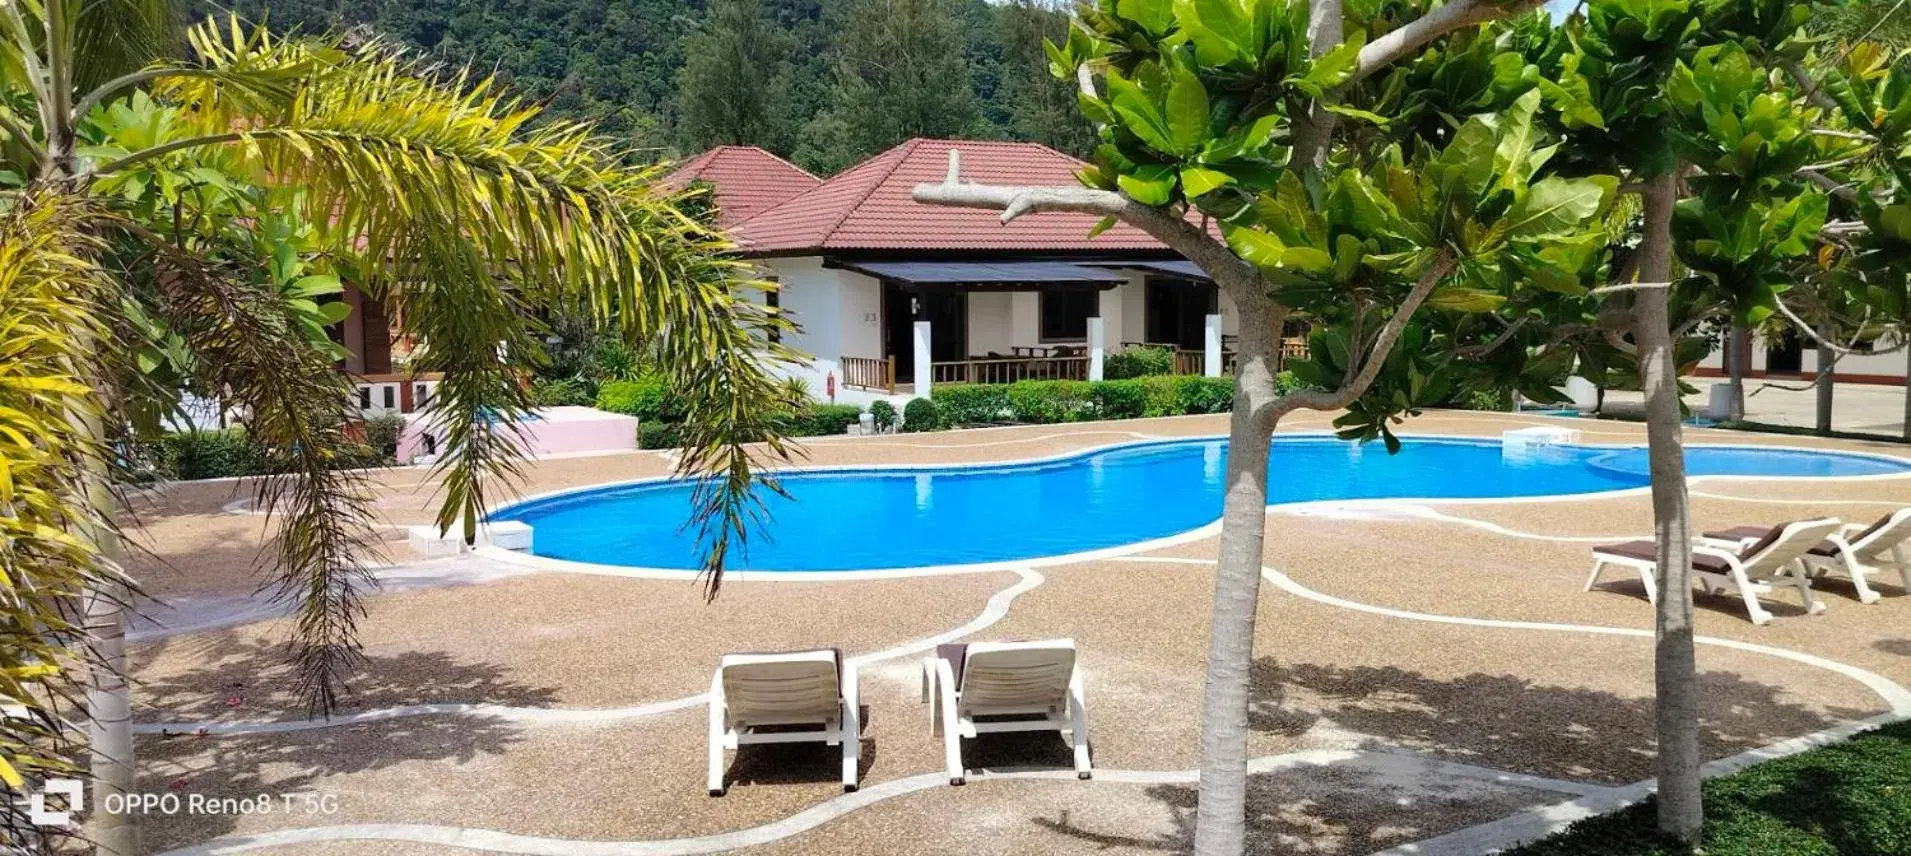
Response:
[{"label": "pale grey tree trunk right of the two foreground loungers", "polygon": [[1280,323],[1269,321],[1269,315],[1278,315],[1271,308],[1240,310],[1221,554],[1208,629],[1208,686],[1202,692],[1196,856],[1240,856],[1248,846],[1248,696],[1267,529],[1267,453],[1275,428],[1257,411],[1275,399],[1271,369],[1278,357]]}]

